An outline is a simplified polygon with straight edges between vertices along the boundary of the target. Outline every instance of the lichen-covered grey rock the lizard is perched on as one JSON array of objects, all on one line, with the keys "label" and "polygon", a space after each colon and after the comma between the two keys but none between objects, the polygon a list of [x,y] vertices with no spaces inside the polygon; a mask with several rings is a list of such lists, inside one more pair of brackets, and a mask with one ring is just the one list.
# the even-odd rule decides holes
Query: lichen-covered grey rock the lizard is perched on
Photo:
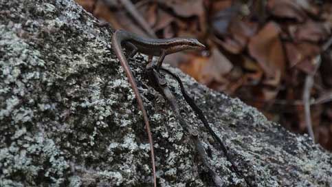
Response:
[{"label": "lichen-covered grey rock the lizard is perched on", "polygon": [[[93,21],[72,0],[0,0],[0,186],[152,186],[142,113],[111,51],[111,32]],[[151,121],[159,186],[214,186],[188,133],[148,82],[146,56],[130,65]],[[171,71],[244,176],[231,170],[168,77],[223,186],[332,186],[332,155],[309,137]]]}]

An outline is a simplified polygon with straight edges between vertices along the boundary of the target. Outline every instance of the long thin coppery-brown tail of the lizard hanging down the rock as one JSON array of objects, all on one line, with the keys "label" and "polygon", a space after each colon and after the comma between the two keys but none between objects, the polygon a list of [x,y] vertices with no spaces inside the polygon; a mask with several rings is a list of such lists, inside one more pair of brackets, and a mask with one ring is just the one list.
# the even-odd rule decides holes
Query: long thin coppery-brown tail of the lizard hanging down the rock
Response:
[{"label": "long thin coppery-brown tail of the lizard hanging down the rock", "polygon": [[152,170],[153,170],[153,183],[154,187],[157,187],[157,177],[155,175],[155,153],[153,151],[153,138],[152,133],[150,129],[150,124],[148,123],[148,115],[146,113],[146,110],[144,109],[143,101],[140,96],[140,92],[137,89],[137,85],[135,82],[135,78],[133,77],[133,74],[131,73],[131,69],[129,68],[128,61],[126,60],[126,57],[124,56],[123,49],[122,49],[122,41],[124,41],[125,36],[121,35],[121,32],[115,31],[112,36],[112,48],[118,57],[122,68],[124,69],[124,72],[126,72],[126,76],[129,80],[129,83],[131,84],[131,87],[133,88],[133,91],[135,93],[135,97],[138,102],[138,107],[140,107],[140,110],[143,113],[143,118],[146,126],[146,133],[148,133],[148,142],[150,144],[151,149],[151,162],[152,162]]}]

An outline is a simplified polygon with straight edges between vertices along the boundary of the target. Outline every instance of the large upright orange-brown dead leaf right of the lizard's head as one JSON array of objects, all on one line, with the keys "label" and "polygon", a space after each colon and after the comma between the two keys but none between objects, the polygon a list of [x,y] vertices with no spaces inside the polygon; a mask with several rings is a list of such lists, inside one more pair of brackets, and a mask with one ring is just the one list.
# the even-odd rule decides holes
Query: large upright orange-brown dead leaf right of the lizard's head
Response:
[{"label": "large upright orange-brown dead leaf right of the lizard's head", "polygon": [[285,56],[279,39],[280,29],[269,22],[265,27],[250,39],[249,53],[261,65],[268,77],[276,76],[276,72],[283,75]]}]

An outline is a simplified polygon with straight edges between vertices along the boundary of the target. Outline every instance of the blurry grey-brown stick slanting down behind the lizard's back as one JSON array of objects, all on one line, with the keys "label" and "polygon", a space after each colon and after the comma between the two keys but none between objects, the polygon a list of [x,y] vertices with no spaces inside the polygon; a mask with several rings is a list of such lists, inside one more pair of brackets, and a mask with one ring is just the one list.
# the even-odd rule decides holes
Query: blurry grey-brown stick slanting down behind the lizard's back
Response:
[{"label": "blurry grey-brown stick slanting down behind the lizard's back", "polygon": [[129,14],[131,14],[131,17],[133,17],[133,19],[135,19],[137,23],[141,25],[141,27],[145,30],[148,36],[150,36],[151,38],[157,38],[150,25],[148,25],[146,20],[142,17],[142,14],[140,14],[140,12],[137,11],[135,5],[133,5],[131,1],[129,0],[119,0],[119,1],[122,3],[126,11],[129,12]]}]

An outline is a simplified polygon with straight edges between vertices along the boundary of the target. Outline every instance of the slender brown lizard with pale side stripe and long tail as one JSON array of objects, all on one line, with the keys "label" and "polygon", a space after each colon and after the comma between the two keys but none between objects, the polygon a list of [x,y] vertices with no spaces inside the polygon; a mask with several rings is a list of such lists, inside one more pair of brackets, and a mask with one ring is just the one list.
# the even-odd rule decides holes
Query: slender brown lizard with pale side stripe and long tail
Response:
[{"label": "slender brown lizard with pale side stripe and long tail", "polygon": [[184,50],[203,50],[205,46],[197,39],[188,38],[171,38],[171,39],[150,39],[139,36],[132,32],[125,30],[115,30],[112,36],[112,49],[115,55],[118,57],[124,72],[129,80],[131,88],[134,91],[135,98],[137,100],[138,107],[142,111],[144,123],[146,126],[146,133],[148,134],[148,142],[151,150],[151,162],[153,170],[153,184],[157,186],[157,177],[155,174],[155,154],[153,151],[153,137],[151,133],[150,124],[148,122],[148,115],[144,109],[144,104],[140,96],[140,92],[137,89],[135,78],[131,69],[129,68],[128,61],[124,56],[124,47],[131,48],[130,57],[133,57],[137,52],[147,54],[149,59],[152,60],[153,56],[159,56],[156,70],[159,72],[159,68],[162,67],[162,63],[167,54],[173,54]]}]

